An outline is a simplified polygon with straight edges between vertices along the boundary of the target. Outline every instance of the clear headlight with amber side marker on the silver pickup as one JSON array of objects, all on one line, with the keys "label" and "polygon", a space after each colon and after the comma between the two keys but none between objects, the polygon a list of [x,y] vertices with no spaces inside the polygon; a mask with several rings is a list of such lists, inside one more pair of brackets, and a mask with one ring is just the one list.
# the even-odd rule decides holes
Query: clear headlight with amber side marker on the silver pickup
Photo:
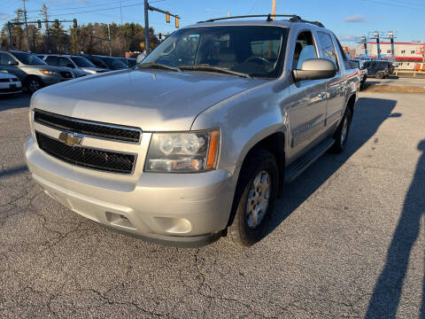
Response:
[{"label": "clear headlight with amber side marker on the silver pickup", "polygon": [[215,169],[220,149],[220,130],[187,133],[154,133],[146,172],[196,173]]}]

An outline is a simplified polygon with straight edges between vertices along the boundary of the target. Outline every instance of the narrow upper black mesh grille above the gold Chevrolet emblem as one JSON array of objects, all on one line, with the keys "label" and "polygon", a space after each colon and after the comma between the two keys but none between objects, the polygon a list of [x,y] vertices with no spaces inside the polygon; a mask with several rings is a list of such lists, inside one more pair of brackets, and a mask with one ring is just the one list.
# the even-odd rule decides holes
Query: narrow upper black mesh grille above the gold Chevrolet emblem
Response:
[{"label": "narrow upper black mesh grille above the gold Chevrolet emblem", "polygon": [[141,136],[140,128],[128,128],[95,121],[84,121],[41,110],[35,110],[34,121],[50,128],[70,130],[87,136],[97,136],[131,143],[139,143]]}]

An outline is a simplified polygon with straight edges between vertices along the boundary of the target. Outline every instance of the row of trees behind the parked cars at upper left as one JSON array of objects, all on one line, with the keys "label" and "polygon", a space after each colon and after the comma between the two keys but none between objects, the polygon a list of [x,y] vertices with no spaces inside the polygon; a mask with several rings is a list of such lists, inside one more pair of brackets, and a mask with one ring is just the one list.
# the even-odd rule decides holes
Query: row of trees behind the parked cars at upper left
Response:
[{"label": "row of trees behind the parked cars at upper left", "polygon": [[[37,24],[28,24],[29,49],[27,47],[27,35],[25,25],[12,27],[12,40],[15,50],[31,51],[33,53],[89,53],[109,55],[109,42],[97,38],[108,38],[108,24],[88,23],[78,27],[67,27],[63,23],[49,23],[51,20],[49,9],[42,4],[41,21],[42,29]],[[24,12],[18,9],[16,17],[11,21],[24,21]],[[128,51],[144,50],[144,27],[139,23],[109,24],[111,32],[112,56],[124,57]],[[150,46],[154,49],[159,41],[154,35],[154,29],[150,28]],[[0,48],[10,48],[10,37],[7,22],[0,31]]]}]

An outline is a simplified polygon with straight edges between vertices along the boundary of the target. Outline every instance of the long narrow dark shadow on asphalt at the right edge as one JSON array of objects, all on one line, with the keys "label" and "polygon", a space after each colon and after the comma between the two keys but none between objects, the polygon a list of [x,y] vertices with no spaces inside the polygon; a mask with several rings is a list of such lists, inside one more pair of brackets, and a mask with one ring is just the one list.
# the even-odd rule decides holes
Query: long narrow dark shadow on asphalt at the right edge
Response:
[{"label": "long narrow dark shadow on asphalt at the right edge", "polygon": [[[425,140],[418,145],[418,150],[422,152],[421,158],[388,249],[385,267],[367,307],[367,318],[395,318],[397,315],[410,253],[420,234],[421,217],[425,214]],[[425,318],[425,276],[422,291],[420,318]]]}]

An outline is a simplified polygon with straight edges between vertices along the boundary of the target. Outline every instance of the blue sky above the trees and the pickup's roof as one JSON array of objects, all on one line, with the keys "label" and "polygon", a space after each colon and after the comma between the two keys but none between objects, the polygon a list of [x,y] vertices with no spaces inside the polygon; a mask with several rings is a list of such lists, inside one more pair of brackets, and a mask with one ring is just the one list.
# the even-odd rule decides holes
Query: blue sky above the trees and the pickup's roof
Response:
[{"label": "blue sky above the trees and the pickup's roof", "polygon": [[[42,4],[50,8],[51,19],[88,22],[139,22],[144,24],[143,0],[27,0],[27,16],[36,20]],[[151,6],[178,14],[181,27],[200,20],[230,15],[267,14],[272,0],[151,0]],[[121,8],[120,8],[121,6]],[[0,0],[0,24],[12,19],[22,8],[22,0]],[[397,32],[396,41],[425,42],[424,0],[277,0],[276,13],[297,14],[303,19],[319,20],[343,43],[353,44],[372,31]],[[173,32],[174,19],[166,23],[162,13],[150,12],[150,25],[156,33]]]}]

